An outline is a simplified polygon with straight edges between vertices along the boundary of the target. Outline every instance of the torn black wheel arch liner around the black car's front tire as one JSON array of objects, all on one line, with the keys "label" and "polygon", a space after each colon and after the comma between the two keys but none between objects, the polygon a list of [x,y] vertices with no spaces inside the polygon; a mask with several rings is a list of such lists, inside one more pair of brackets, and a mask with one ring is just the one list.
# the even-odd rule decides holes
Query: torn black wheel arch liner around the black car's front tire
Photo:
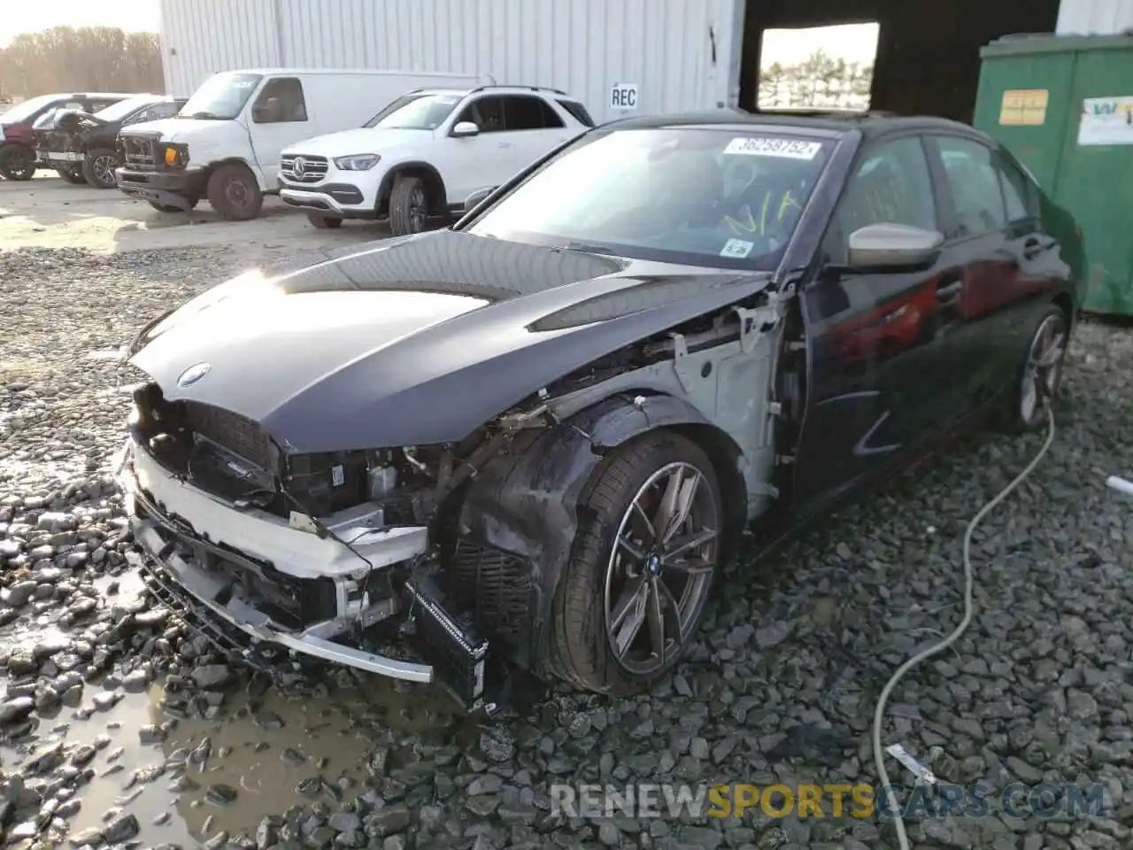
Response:
[{"label": "torn black wheel arch liner around the black car's front tire", "polygon": [[547,657],[539,648],[546,645],[555,589],[578,532],[579,496],[604,454],[647,432],[680,425],[715,430],[675,397],[620,394],[538,432],[476,476],[461,510],[461,539],[513,554],[530,579],[529,639],[509,647],[511,661],[547,672],[535,669]]}]

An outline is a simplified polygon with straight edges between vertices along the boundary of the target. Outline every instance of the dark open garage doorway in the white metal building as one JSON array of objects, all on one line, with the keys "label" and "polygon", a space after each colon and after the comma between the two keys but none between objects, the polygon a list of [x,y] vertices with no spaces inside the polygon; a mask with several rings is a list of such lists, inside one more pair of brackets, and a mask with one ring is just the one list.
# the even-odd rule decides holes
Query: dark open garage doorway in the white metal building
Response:
[{"label": "dark open garage doorway in the white metal building", "polygon": [[[740,107],[755,110],[807,108],[795,97],[819,101],[810,108],[830,108],[828,86],[817,82],[768,80],[775,74],[776,44],[793,37],[798,50],[792,65],[803,71],[834,78],[847,45],[835,31],[844,25],[872,26],[877,31],[876,58],[869,82],[859,74],[837,88],[858,92],[843,108],[874,109],[900,114],[942,116],[971,122],[980,75],[980,48],[1016,33],[1049,33],[1058,18],[1058,0],[747,0],[743,54],[740,69]],[[816,27],[829,31],[825,35]],[[782,31],[794,31],[793,36]],[[768,37],[764,37],[765,33]],[[833,33],[833,35],[832,35]],[[827,40],[820,61],[806,46],[816,37]],[[840,49],[837,45],[842,44]],[[765,46],[766,45],[766,46]],[[801,45],[801,46],[799,46]],[[761,53],[768,51],[770,61]],[[860,53],[860,51],[859,51]],[[849,66],[852,60],[845,60]],[[863,66],[863,60],[858,60]],[[778,59],[780,68],[784,60]],[[763,75],[760,74],[763,68]],[[861,70],[862,68],[859,68]],[[845,69],[849,75],[849,68]],[[793,73],[793,71],[792,71]],[[862,93],[868,85],[867,95]],[[817,94],[816,94],[817,92]],[[830,93],[833,96],[833,93]],[[763,102],[763,103],[761,103]],[[862,105],[862,104],[868,105]]]}]

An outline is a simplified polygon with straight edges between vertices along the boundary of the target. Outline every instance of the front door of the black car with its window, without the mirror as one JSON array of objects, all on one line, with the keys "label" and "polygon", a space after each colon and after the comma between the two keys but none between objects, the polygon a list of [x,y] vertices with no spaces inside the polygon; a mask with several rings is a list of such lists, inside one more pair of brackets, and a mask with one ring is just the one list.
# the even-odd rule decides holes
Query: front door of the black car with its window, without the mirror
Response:
[{"label": "front door of the black car with its window, without the mirror", "polygon": [[847,239],[859,228],[892,222],[939,231],[943,219],[918,135],[863,147],[819,270],[801,294],[810,368],[794,502],[803,512],[915,450],[955,393],[944,342],[959,289],[951,257],[942,253],[923,271],[845,270]]}]

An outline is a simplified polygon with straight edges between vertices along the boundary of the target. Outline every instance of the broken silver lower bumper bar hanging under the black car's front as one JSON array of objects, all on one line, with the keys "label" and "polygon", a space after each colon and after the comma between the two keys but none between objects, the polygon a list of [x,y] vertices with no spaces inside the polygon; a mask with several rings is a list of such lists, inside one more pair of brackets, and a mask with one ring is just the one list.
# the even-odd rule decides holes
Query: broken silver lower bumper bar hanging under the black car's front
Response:
[{"label": "broken silver lower bumper bar hanging under the black car's front", "polygon": [[[484,704],[487,641],[478,638],[470,627],[458,624],[441,605],[441,594],[427,577],[410,577],[399,593],[374,604],[358,605],[349,617],[289,627],[273,619],[264,610],[266,605],[239,581],[233,581],[230,572],[208,567],[218,560],[239,563],[242,560],[239,554],[189,532],[167,516],[128,473],[120,474],[119,481],[133,503],[130,527],[142,550],[131,560],[182,604],[205,609],[254,643],[275,644],[293,653],[394,679],[435,681],[467,711],[492,709]],[[359,628],[399,613],[412,618],[415,648],[431,663],[411,663],[340,643]]]}]

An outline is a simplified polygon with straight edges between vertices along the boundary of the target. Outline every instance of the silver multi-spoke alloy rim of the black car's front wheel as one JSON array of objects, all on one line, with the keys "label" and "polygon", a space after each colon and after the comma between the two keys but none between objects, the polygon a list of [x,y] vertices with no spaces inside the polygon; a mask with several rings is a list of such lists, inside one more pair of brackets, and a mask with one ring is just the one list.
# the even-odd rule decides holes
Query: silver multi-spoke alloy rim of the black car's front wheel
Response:
[{"label": "silver multi-spoke alloy rim of the black car's front wheel", "polygon": [[704,473],[668,464],[622,517],[606,567],[606,638],[629,673],[668,664],[696,626],[716,566],[719,507]]}]

